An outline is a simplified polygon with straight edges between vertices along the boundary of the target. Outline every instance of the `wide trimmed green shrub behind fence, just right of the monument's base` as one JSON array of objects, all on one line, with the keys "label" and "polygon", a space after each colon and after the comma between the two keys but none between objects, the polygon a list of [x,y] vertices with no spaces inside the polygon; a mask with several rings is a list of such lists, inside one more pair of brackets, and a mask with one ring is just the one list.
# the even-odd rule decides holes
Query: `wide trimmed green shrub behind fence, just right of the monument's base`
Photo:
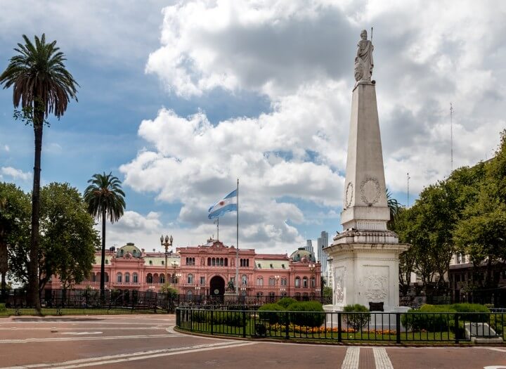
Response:
[{"label": "wide trimmed green shrub behind fence, just right of the monument's base", "polygon": [[453,328],[455,309],[448,305],[424,304],[419,310],[410,310],[401,316],[401,323],[410,330],[441,332]]}]

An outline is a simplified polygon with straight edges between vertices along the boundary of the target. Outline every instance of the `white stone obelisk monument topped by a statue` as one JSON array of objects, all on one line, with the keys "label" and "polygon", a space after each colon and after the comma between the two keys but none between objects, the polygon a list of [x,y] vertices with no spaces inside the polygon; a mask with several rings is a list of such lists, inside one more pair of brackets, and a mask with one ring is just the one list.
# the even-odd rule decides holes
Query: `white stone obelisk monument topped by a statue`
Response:
[{"label": "white stone obelisk monument topped by a statue", "polygon": [[409,245],[398,243],[387,230],[387,205],[375,81],[371,80],[372,46],[365,30],[355,58],[351,122],[344,183],[342,233],[325,248],[331,257],[334,293],[332,309],[348,304],[383,305],[399,311],[398,255]]}]

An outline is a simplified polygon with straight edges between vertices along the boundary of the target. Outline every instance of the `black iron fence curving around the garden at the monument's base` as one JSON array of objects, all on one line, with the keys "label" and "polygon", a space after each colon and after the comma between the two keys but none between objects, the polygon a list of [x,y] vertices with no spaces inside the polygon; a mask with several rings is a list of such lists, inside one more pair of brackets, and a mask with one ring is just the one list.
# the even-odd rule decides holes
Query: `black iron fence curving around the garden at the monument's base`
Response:
[{"label": "black iron fence curving around the garden at the monument's base", "polygon": [[240,306],[179,307],[181,330],[252,338],[335,342],[472,342],[506,339],[506,313],[261,311]]}]

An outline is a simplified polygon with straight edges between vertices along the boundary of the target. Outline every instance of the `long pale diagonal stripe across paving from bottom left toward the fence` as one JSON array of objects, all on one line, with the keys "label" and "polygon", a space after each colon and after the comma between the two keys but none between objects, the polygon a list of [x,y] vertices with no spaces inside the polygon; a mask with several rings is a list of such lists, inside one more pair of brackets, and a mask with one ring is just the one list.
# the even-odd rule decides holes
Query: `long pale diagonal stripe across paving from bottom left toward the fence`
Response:
[{"label": "long pale diagonal stripe across paving from bottom left toward the fence", "polygon": [[77,360],[72,360],[72,361],[63,361],[62,363],[52,363],[52,364],[40,363],[40,364],[4,367],[4,368],[0,368],[0,369],[82,368],[82,367],[86,367],[86,366],[105,365],[105,364],[111,364],[111,363],[122,363],[124,361],[145,360],[148,358],[157,358],[157,357],[162,357],[162,356],[190,354],[190,353],[199,352],[199,351],[228,349],[228,348],[233,348],[233,347],[249,346],[252,344],[257,344],[257,342],[230,342],[230,341],[227,341],[227,342],[220,342],[217,344],[200,344],[197,346],[190,346],[190,347],[178,347],[176,349],[160,349],[160,350],[152,350],[152,351],[141,351],[141,352],[129,353],[129,354],[98,356],[95,358],[84,358],[84,359],[77,359]]}]

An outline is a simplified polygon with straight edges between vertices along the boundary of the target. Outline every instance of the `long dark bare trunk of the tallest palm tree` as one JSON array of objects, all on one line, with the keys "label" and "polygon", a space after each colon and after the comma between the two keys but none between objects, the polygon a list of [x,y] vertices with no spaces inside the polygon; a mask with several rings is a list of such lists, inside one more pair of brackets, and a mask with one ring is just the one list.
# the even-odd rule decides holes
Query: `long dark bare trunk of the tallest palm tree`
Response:
[{"label": "long dark bare trunk of the tallest palm tree", "polygon": [[35,306],[41,313],[39,295],[39,209],[40,209],[40,172],[42,151],[42,128],[44,124],[44,112],[35,110],[34,113],[34,181],[32,189],[32,234],[30,247],[29,290],[28,304]]}]

